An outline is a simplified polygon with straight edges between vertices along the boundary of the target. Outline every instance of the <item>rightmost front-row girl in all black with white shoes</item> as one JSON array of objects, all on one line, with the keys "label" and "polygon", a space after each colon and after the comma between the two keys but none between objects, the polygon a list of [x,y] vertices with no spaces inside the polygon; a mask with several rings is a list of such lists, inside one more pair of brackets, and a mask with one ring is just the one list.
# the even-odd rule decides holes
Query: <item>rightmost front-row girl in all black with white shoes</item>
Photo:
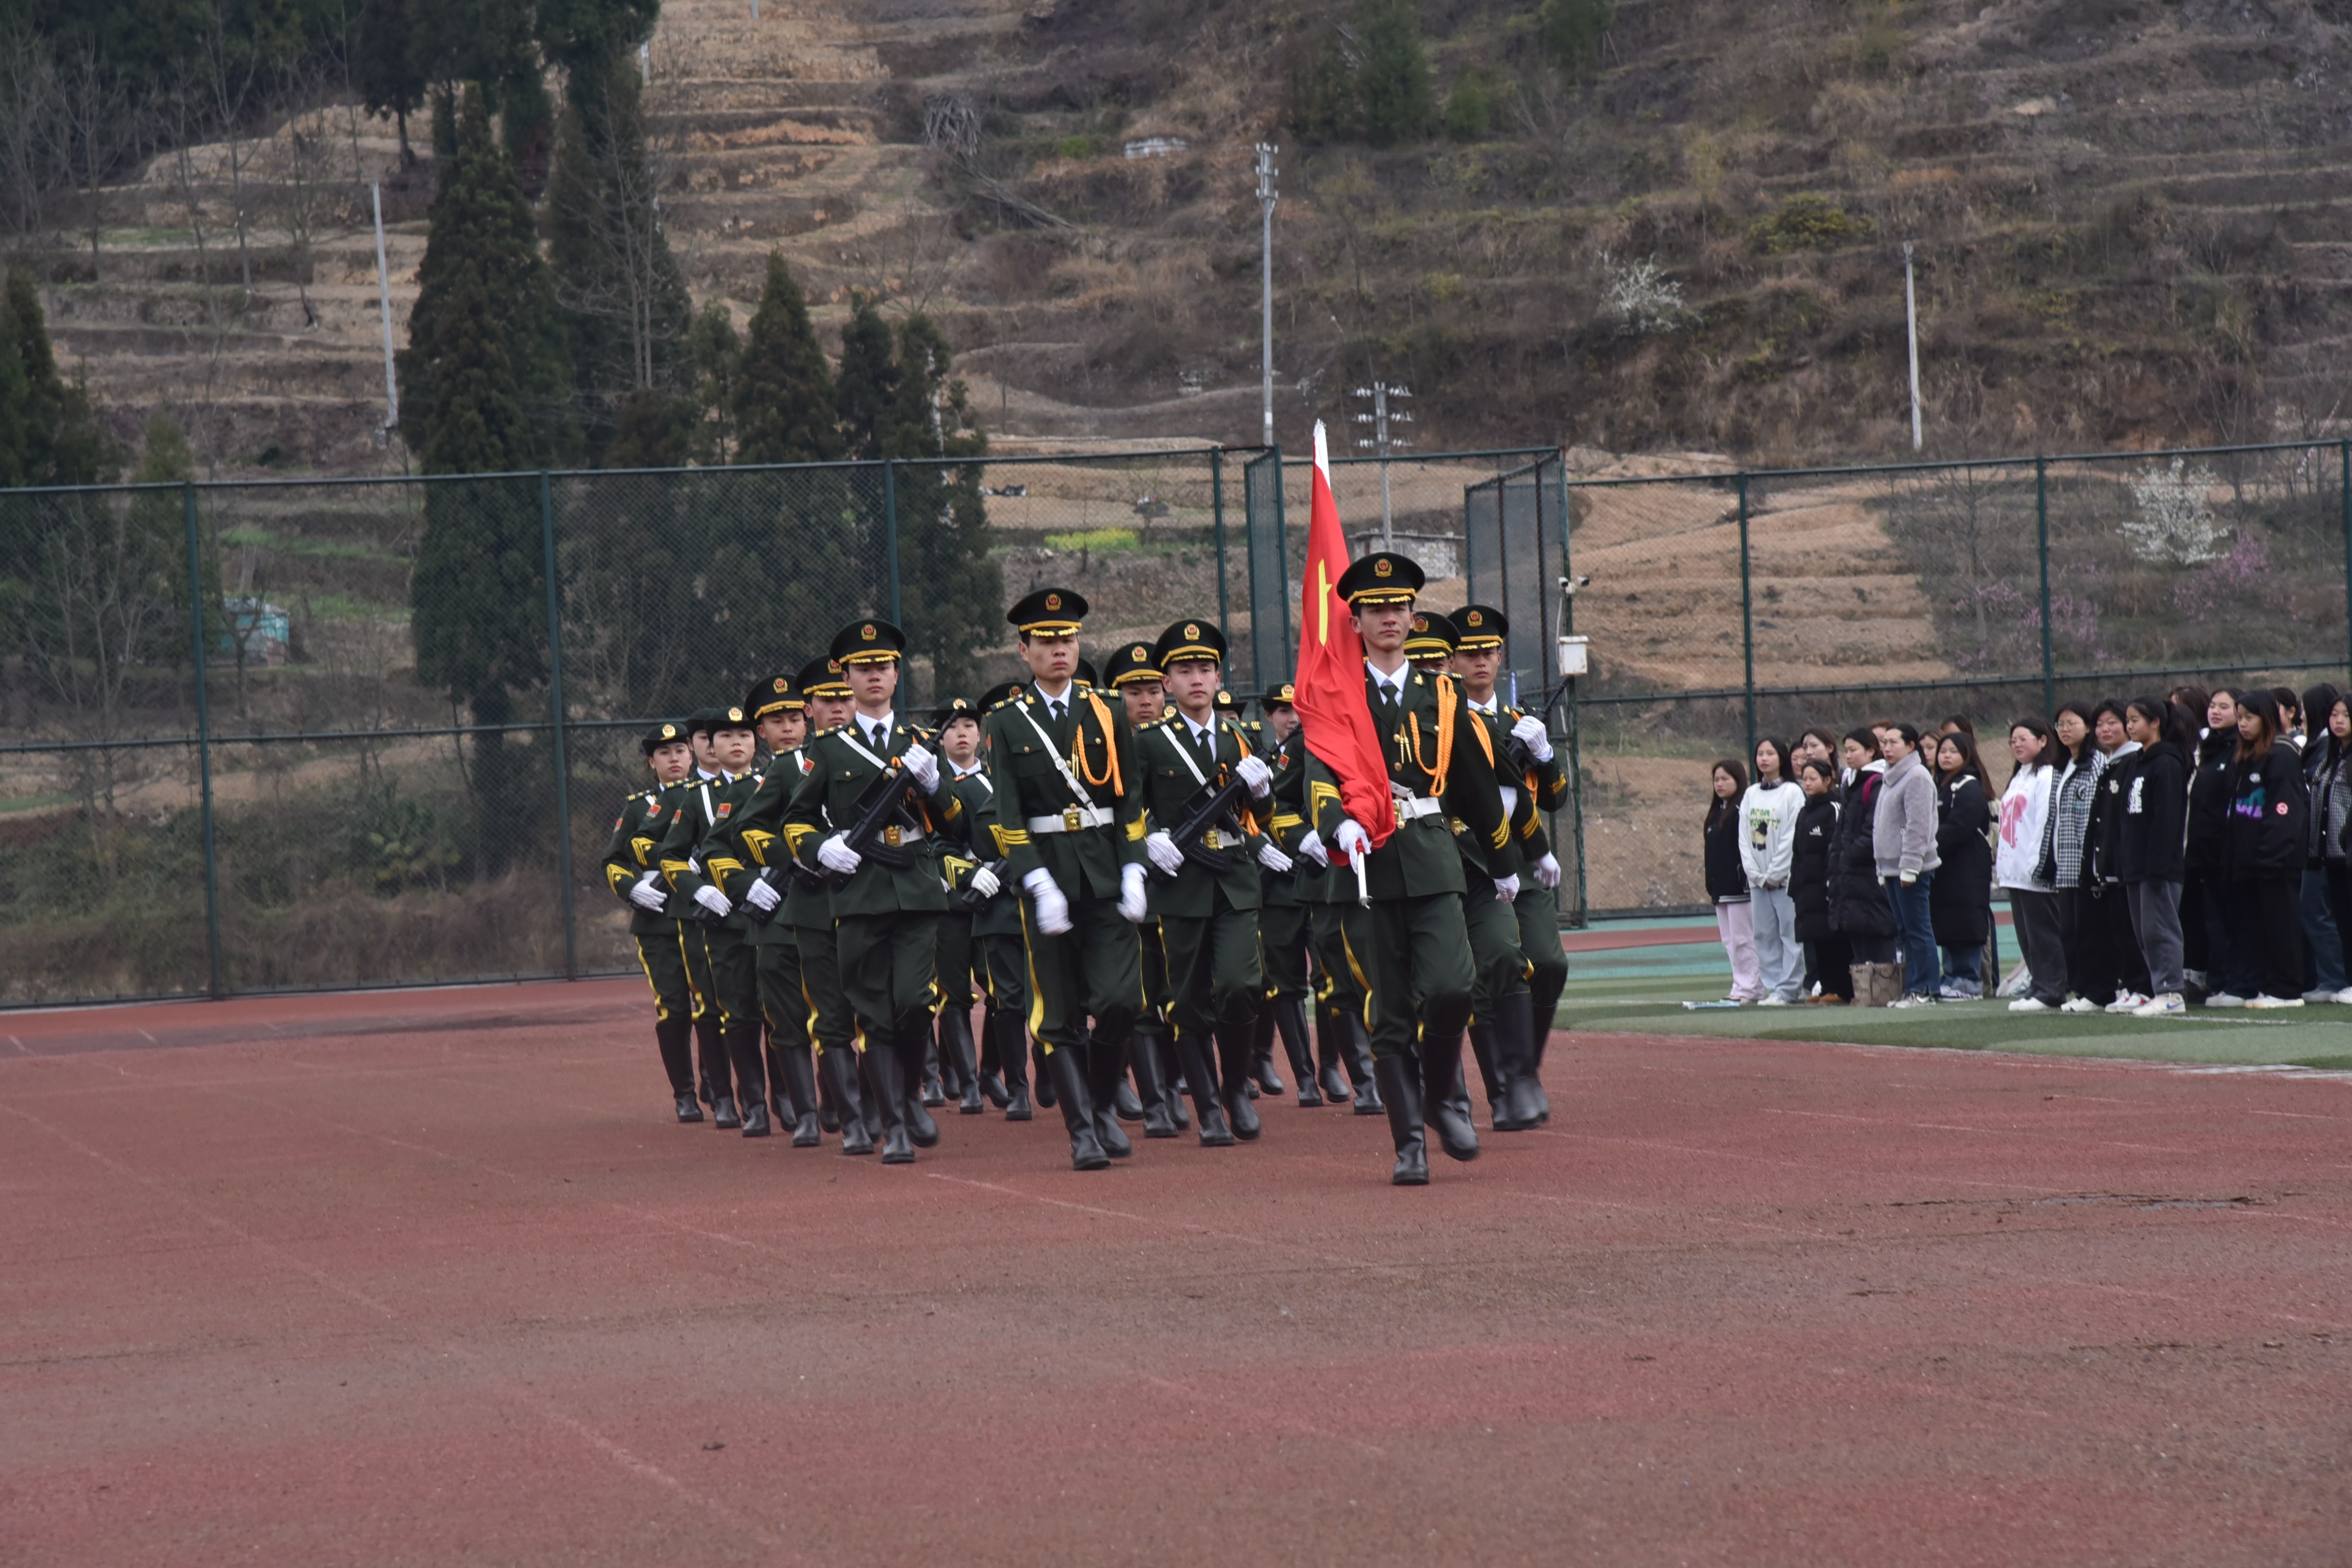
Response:
[{"label": "rightmost front-row girl in all black with white shoes", "polygon": [[2303,839],[2310,797],[2303,757],[2279,736],[2279,703],[2246,691],[2237,703],[2223,872],[2232,919],[2253,947],[2263,990],[2246,1006],[2303,1006]]}]

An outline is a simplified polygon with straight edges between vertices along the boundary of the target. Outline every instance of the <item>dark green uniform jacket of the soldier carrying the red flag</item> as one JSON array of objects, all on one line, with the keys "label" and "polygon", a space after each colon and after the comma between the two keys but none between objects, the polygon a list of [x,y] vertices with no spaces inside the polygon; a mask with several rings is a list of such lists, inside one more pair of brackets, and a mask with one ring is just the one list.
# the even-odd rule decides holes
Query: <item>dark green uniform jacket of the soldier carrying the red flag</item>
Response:
[{"label": "dark green uniform jacket of the soldier carrying the red flag", "polygon": [[[1383,703],[1369,670],[1364,672],[1364,701],[1371,703],[1378,726]],[[1503,795],[1496,788],[1494,764],[1486,759],[1486,748],[1470,733],[1475,722],[1454,677],[1406,670],[1402,712],[1383,729],[1381,755],[1388,762],[1392,788],[1437,797],[1444,802],[1444,811],[1411,823],[1399,820],[1388,844],[1371,851],[1367,875],[1374,898],[1461,893],[1465,863],[1496,879],[1519,872],[1519,851],[1510,842],[1510,823],[1503,820]],[[1444,778],[1439,778],[1439,766]],[[1322,757],[1312,755],[1308,757],[1308,802],[1315,832],[1331,846],[1331,879],[1352,891],[1355,872],[1341,863],[1334,837],[1348,816],[1338,797],[1338,776],[1324,766]]]}]

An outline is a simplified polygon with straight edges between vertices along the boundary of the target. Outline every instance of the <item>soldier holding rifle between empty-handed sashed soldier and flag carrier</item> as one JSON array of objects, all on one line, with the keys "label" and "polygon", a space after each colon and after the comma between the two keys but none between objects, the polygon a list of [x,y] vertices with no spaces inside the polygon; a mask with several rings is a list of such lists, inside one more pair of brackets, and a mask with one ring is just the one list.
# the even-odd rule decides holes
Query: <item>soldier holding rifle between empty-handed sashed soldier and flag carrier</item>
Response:
[{"label": "soldier holding rifle between empty-handed sashed soldier and flag carrier", "polygon": [[[1291,870],[1265,839],[1251,804],[1272,795],[1275,771],[1251,755],[1242,726],[1216,710],[1225,637],[1204,621],[1178,621],[1152,649],[1176,712],[1136,736],[1148,832],[1143,853],[1160,882],[1150,910],[1169,964],[1169,1023],[1200,1117],[1200,1140],[1225,1147],[1258,1135],[1249,1103],[1251,1018],[1265,994],[1258,957],[1258,867]],[[1204,827],[1200,813],[1230,780],[1247,802],[1230,802]],[[1188,835],[1181,842],[1176,835]],[[1214,860],[1204,865],[1202,856]],[[1218,1058],[1211,1065],[1209,1044]],[[1221,1086],[1223,1081],[1223,1086]]]}]

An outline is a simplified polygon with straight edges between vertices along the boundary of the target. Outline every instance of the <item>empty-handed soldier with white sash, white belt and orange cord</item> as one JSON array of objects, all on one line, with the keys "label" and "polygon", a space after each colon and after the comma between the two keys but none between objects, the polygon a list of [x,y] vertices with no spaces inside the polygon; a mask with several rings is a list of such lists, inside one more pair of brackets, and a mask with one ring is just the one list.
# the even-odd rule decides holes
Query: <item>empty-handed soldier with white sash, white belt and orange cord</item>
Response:
[{"label": "empty-handed soldier with white sash, white belt and orange cord", "polygon": [[[1143,1011],[1143,788],[1127,717],[1077,682],[1087,599],[1040,588],[1007,618],[1030,679],[981,724],[1007,872],[1025,896],[1030,1032],[1054,1077],[1070,1164],[1129,1150],[1110,1110]],[[1094,1018],[1089,1041],[1087,1018]]]}]

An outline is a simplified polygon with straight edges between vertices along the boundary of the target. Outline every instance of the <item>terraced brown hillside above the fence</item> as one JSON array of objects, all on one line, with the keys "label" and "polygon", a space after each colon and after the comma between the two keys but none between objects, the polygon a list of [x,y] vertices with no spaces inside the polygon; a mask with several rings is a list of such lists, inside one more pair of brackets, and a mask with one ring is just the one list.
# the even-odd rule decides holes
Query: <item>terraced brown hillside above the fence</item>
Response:
[{"label": "terraced brown hillside above the fence", "polygon": [[[1348,14],[670,0],[673,242],[739,310],[771,247],[823,322],[851,289],[931,310],[997,435],[1251,442],[1249,146],[1272,136],[1289,442],[1378,374],[1421,395],[1425,449],[1905,456],[1905,237],[1931,454],[2338,428],[2352,7],[1623,0],[1571,82],[1536,63],[1529,7],[1432,0],[1437,103],[1482,75],[1486,132],[1301,143],[1287,85]],[[397,465],[372,440],[353,176],[395,174],[397,310],[430,174],[397,172],[383,122],[308,132],[242,148],[245,259],[216,146],[106,193],[96,275],[73,235],[45,256],[59,339],[125,430],[172,404],[219,473]],[[1188,146],[1124,155],[1148,136]],[[308,240],[303,179],[332,197]],[[1642,263],[1665,289],[1628,322],[1606,301]]]}]

